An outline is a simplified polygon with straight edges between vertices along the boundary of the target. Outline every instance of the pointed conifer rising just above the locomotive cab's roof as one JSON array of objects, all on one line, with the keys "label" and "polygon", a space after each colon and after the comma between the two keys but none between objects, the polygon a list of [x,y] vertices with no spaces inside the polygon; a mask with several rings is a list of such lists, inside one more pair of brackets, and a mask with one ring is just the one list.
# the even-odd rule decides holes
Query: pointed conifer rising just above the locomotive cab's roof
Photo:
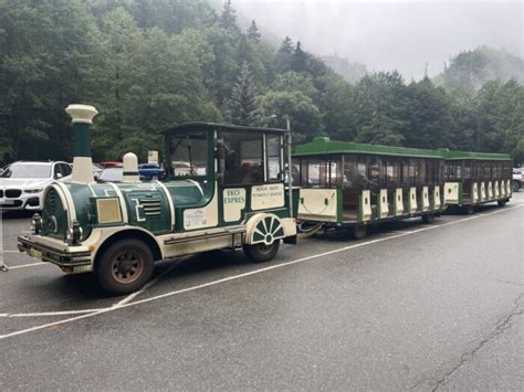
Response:
[{"label": "pointed conifer rising just above the locomotive cab's roof", "polygon": [[237,125],[253,125],[258,108],[253,77],[248,62],[242,64],[229,100],[230,121]]}]

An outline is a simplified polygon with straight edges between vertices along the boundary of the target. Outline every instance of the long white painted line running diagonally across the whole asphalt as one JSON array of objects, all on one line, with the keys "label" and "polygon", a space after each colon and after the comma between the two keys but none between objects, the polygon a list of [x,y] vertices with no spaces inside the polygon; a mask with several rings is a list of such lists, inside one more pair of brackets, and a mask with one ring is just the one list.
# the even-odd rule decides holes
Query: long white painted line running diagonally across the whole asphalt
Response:
[{"label": "long white painted line running diagonally across the whole asphalt", "polygon": [[318,258],[318,259],[322,261],[322,259],[324,259],[325,256],[336,254],[336,253],[340,253],[340,252],[345,252],[345,251],[349,251],[349,250],[353,250],[353,248],[356,248],[356,247],[371,245],[371,244],[376,244],[376,243],[388,241],[388,240],[399,239],[399,237],[402,237],[402,236],[416,234],[416,233],[423,232],[423,231],[427,231],[427,230],[440,229],[440,227],[449,226],[449,225],[452,225],[452,224],[458,224],[458,223],[461,223],[461,222],[471,221],[471,220],[474,220],[474,219],[480,219],[482,216],[493,215],[495,213],[501,213],[501,212],[506,212],[506,211],[517,209],[517,208],[521,208],[521,206],[524,206],[524,204],[501,209],[501,210],[490,212],[490,213],[486,213],[486,214],[475,214],[475,215],[471,215],[471,216],[460,219],[460,220],[457,220],[457,221],[452,221],[452,222],[447,222],[447,223],[432,225],[432,226],[426,226],[426,227],[413,230],[413,231],[407,232],[407,233],[395,234],[395,235],[390,235],[390,236],[382,237],[382,239],[371,240],[371,241],[363,242],[363,243],[359,243],[359,244],[354,244],[354,245],[349,245],[349,246],[339,247],[337,250],[333,250],[333,251],[323,252],[323,253],[319,253],[319,254],[297,258],[297,259],[294,259],[294,261],[291,261],[291,262],[275,264],[275,265],[272,265],[272,266],[269,266],[269,267],[259,268],[259,269],[251,271],[251,272],[243,273],[243,274],[232,275],[232,276],[229,276],[229,277],[226,277],[226,278],[222,278],[222,279],[208,282],[208,283],[205,283],[205,284],[201,284],[201,285],[191,286],[191,287],[187,287],[187,288],[182,288],[182,289],[160,294],[160,295],[149,297],[149,298],[145,298],[145,299],[140,299],[140,300],[137,300],[137,301],[134,301],[134,303],[127,303],[127,304],[124,304],[124,305],[116,304],[112,307],[103,308],[101,310],[92,311],[92,312],[88,312],[88,314],[85,314],[85,315],[81,315],[81,316],[76,316],[76,317],[72,317],[72,318],[67,318],[67,319],[59,320],[59,321],[54,321],[54,322],[43,324],[43,325],[40,325],[40,326],[18,330],[18,331],[14,331],[14,332],[11,332],[11,333],[0,335],[0,340],[1,339],[7,339],[7,338],[12,338],[12,337],[19,336],[19,335],[34,332],[34,331],[45,329],[45,328],[50,328],[50,327],[54,327],[54,326],[60,326],[60,325],[63,325],[63,324],[73,322],[73,321],[76,321],[76,320],[82,320],[84,318],[102,315],[102,314],[109,312],[109,311],[115,311],[115,310],[118,310],[118,309],[124,309],[124,308],[127,308],[127,307],[150,303],[150,301],[154,301],[154,300],[157,300],[157,299],[171,297],[171,296],[175,296],[175,295],[178,295],[178,294],[184,294],[184,293],[188,293],[188,292],[198,290],[200,288],[219,285],[219,284],[226,283],[226,282],[238,280],[238,279],[241,279],[243,277],[262,274],[262,273],[268,272],[268,271],[286,267],[286,266],[298,264],[298,263],[304,263],[304,262],[307,262],[307,261],[311,261],[311,259],[314,259],[314,258]]}]

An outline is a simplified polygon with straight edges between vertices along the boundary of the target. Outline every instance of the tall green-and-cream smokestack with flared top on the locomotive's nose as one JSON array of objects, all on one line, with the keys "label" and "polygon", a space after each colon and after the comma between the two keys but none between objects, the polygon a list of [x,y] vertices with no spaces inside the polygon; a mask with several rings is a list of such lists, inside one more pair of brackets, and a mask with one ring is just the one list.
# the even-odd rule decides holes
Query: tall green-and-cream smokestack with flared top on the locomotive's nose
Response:
[{"label": "tall green-and-cream smokestack with flared top on the locomotive's nose", "polygon": [[90,105],[70,105],[65,112],[71,116],[74,133],[74,158],[72,182],[94,182],[93,160],[90,148],[90,125],[98,112]]}]

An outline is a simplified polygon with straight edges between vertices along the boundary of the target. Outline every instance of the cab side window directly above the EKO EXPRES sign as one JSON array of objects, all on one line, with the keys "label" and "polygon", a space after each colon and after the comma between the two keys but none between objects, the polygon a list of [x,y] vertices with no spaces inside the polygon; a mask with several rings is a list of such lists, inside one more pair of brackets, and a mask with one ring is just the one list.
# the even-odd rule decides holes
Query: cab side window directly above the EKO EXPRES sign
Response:
[{"label": "cab side window directly above the EKO EXPRES sign", "polygon": [[222,131],[217,146],[223,184],[264,181],[262,134]]}]

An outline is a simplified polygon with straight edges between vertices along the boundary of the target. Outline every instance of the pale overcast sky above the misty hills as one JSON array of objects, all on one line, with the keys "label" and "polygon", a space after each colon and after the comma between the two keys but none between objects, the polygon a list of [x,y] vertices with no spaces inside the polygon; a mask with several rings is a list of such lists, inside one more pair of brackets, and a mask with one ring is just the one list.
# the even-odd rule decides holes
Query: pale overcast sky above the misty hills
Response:
[{"label": "pale overcast sky above the misty hills", "polygon": [[232,0],[243,18],[316,54],[337,54],[406,78],[434,76],[479,45],[523,56],[524,1]]}]

